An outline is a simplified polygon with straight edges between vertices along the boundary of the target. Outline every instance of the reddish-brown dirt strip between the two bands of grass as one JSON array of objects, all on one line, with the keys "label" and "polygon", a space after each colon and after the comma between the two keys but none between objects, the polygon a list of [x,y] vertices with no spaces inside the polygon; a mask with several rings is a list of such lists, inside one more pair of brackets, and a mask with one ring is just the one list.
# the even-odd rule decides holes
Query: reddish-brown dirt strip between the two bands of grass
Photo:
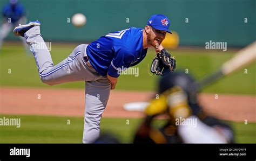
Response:
[{"label": "reddish-brown dirt strip between the two bands of grass", "polygon": [[[0,114],[84,116],[84,90],[0,87]],[[153,92],[112,90],[103,117],[143,117],[125,111],[124,103],[149,101]],[[248,95],[200,94],[200,104],[211,115],[224,120],[256,122],[256,97]]]}]

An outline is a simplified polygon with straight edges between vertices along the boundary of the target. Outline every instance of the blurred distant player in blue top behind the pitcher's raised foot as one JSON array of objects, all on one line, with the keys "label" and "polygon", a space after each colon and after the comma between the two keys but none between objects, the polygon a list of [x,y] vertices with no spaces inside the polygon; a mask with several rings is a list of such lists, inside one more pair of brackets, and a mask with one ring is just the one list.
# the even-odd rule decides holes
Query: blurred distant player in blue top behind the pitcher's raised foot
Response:
[{"label": "blurred distant player in blue top behind the pitcher's raised foot", "polygon": [[[9,3],[2,8],[2,16],[3,22],[0,27],[0,51],[3,40],[8,36],[9,32],[13,30],[15,26],[26,23],[25,9],[19,4],[18,0],[9,0]],[[26,53],[30,54],[29,45],[26,44],[26,39],[24,37],[20,38],[24,44]]]}]

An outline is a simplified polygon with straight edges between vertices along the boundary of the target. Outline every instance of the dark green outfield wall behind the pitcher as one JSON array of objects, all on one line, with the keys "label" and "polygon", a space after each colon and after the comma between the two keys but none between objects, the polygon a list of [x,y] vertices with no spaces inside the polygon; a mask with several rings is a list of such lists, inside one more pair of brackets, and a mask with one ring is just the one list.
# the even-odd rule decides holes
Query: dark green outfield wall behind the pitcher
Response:
[{"label": "dark green outfield wall behind the pitcher", "polygon": [[[1,0],[0,6],[8,1]],[[255,0],[21,0],[29,20],[38,19],[46,41],[90,42],[112,31],[144,27],[154,13],[170,18],[180,45],[205,46],[225,41],[246,46],[256,39]],[[69,18],[82,12],[87,23],[72,26]],[[1,18],[3,19],[3,18]],[[8,39],[16,39],[9,34]]]}]

